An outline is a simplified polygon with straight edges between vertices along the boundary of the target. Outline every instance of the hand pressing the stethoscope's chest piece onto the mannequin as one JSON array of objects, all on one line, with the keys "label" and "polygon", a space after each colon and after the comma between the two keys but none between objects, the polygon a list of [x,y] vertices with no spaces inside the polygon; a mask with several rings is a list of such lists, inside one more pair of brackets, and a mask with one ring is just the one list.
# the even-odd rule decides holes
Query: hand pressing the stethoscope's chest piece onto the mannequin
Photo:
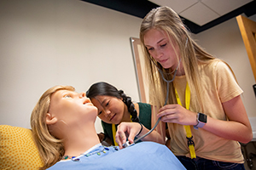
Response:
[{"label": "hand pressing the stethoscope's chest piece onto the mannequin", "polygon": [[119,144],[119,149],[124,148],[123,144],[125,144],[127,138],[130,144],[133,144],[134,138],[140,130],[141,125],[137,122],[121,122],[115,135],[116,142]]}]

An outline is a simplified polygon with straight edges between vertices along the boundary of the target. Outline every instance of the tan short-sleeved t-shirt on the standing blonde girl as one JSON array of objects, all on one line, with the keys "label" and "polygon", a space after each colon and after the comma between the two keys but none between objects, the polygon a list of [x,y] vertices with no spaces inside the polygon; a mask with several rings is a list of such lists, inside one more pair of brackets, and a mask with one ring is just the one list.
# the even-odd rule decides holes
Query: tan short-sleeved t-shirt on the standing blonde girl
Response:
[{"label": "tan short-sleeved t-shirt on the standing blonde girl", "polygon": [[[214,59],[210,64],[202,65],[200,72],[200,83],[203,87],[201,90],[204,95],[204,114],[226,121],[227,117],[222,103],[242,94],[241,88],[236,83],[230,68],[219,59]],[[185,106],[186,83],[185,76],[175,77],[175,88],[183,106]],[[195,98],[195,94],[191,93],[190,111],[195,111],[193,98]],[[176,123],[168,123],[168,127],[171,135],[170,148],[172,152],[176,156],[190,157],[184,127]],[[237,141],[220,138],[202,128],[198,128],[198,130],[194,129],[193,126],[190,126],[190,128],[195,141],[196,156],[214,161],[243,163],[241,146]]]}]

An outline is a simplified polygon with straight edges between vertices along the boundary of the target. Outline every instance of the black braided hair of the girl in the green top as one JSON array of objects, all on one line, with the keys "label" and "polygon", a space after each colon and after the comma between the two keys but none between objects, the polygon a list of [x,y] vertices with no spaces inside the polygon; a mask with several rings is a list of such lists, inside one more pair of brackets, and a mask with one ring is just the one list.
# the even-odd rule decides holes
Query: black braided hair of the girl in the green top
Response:
[{"label": "black braided hair of the girl in the green top", "polygon": [[86,92],[86,96],[90,99],[96,98],[99,95],[112,96],[118,99],[123,99],[125,105],[127,105],[128,111],[131,114],[132,122],[139,122],[139,118],[137,116],[137,111],[131,102],[131,97],[126,96],[123,90],[118,90],[113,87],[113,85],[108,84],[108,82],[96,82],[90,86],[88,91]]}]

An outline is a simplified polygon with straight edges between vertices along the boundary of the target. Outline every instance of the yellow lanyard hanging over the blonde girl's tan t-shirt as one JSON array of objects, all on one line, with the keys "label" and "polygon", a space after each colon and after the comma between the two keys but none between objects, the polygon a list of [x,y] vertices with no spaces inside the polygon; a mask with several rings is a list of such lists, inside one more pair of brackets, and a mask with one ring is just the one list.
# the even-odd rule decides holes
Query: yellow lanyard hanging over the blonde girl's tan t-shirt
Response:
[{"label": "yellow lanyard hanging over the blonde girl's tan t-shirt", "polygon": [[[177,104],[178,105],[182,105],[179,96],[177,94],[177,90],[175,89],[175,93],[176,93],[176,99],[177,99]],[[186,105],[186,109],[189,110],[189,105],[190,105],[190,89],[189,89],[189,84],[187,83],[186,86],[186,94],[185,94],[185,105]],[[186,130],[187,133],[187,140],[188,140],[188,146],[189,146],[189,151],[190,151],[190,156],[191,159],[196,158],[195,156],[195,143],[193,141],[193,136],[191,133],[191,129],[189,125],[184,125],[184,128]]]}]

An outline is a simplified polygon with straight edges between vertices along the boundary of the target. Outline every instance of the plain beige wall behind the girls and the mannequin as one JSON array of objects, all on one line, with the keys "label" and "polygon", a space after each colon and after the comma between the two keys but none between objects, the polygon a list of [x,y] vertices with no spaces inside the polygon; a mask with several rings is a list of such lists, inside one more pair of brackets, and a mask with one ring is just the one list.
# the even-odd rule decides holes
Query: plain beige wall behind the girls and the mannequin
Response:
[{"label": "plain beige wall behind the girls and the mannequin", "polygon": [[[130,37],[142,19],[79,0],[0,2],[0,124],[30,127],[44,91],[72,85],[86,91],[106,81],[139,100]],[[195,37],[234,69],[249,116],[256,116],[252,71],[236,20]],[[102,130],[99,120],[96,130]]]}]

